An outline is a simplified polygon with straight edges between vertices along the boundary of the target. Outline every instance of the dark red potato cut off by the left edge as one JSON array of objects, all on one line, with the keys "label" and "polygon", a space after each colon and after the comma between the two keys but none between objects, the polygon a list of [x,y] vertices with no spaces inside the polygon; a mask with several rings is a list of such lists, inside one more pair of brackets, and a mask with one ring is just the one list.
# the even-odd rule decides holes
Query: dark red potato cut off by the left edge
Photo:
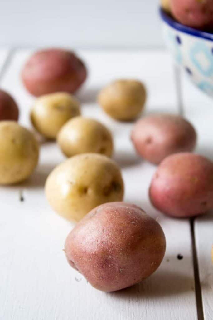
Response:
[{"label": "dark red potato cut off by the left edge", "polygon": [[0,90],[0,121],[18,121],[19,108],[11,95],[4,90]]}]

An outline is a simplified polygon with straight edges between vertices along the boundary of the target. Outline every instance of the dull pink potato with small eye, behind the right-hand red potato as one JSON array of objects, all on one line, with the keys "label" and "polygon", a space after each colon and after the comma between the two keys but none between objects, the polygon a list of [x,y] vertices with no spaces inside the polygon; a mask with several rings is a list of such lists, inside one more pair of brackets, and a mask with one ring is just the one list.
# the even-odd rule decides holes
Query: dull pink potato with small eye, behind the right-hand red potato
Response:
[{"label": "dull pink potato with small eye, behind the right-hand red potato", "polygon": [[144,159],[159,164],[173,153],[193,151],[196,132],[181,116],[154,114],[134,125],[131,139]]}]

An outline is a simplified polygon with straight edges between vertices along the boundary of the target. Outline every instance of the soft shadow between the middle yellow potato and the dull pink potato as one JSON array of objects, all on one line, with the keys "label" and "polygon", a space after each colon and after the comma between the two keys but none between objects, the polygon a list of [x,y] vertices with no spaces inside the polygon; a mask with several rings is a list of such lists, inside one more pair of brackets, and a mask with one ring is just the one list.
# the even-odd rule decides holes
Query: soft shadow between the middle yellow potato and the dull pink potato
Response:
[{"label": "soft shadow between the middle yellow potato and the dull pink potato", "polygon": [[113,156],[113,160],[117,162],[121,168],[131,167],[143,161],[136,153],[125,150],[117,151]]}]

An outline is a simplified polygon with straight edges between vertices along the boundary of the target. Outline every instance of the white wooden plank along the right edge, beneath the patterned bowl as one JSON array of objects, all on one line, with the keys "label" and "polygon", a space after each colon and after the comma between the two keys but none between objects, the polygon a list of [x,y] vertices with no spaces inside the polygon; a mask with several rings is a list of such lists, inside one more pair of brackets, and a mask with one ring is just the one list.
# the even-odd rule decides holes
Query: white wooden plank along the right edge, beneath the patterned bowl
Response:
[{"label": "white wooden plank along the right edge, beneath the patterned bowl", "polygon": [[[193,86],[182,76],[184,115],[194,124],[198,132],[196,152],[213,160],[212,114],[213,100]],[[198,257],[199,277],[205,320],[213,318],[213,212],[195,219],[195,242]]]}]

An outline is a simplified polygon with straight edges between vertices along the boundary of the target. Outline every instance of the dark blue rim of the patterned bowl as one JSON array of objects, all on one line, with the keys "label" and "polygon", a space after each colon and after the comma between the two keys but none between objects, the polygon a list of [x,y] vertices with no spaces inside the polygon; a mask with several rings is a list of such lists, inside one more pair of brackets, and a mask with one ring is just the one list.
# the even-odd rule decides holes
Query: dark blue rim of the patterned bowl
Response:
[{"label": "dark blue rim of the patterned bowl", "polygon": [[162,20],[164,20],[172,28],[179,30],[181,32],[187,33],[189,35],[199,37],[202,39],[207,39],[213,41],[213,33],[196,30],[194,28],[186,27],[183,24],[175,21],[168,13],[166,13],[162,8],[160,8],[160,15]]}]

